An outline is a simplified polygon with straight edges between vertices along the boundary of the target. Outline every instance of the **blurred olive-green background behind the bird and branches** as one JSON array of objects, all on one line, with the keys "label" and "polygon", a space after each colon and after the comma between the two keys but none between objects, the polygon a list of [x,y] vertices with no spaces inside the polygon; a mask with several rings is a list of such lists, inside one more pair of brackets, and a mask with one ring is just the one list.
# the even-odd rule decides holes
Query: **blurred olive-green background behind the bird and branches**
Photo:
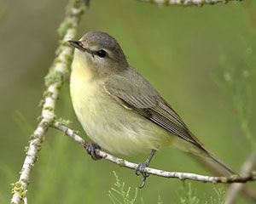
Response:
[{"label": "blurred olive-green background behind the bird and branches", "polygon": [[[55,56],[56,29],[66,5],[67,0],[0,1],[0,203],[9,202],[10,184],[18,179],[24,148],[37,124],[44,76]],[[92,0],[79,37],[92,30],[116,37],[131,65],[165,96],[201,142],[239,170],[252,150],[241,123],[249,122],[250,131],[256,131],[255,1],[183,8]],[[240,104],[248,112],[242,120],[236,108]],[[86,137],[74,115],[68,84],[61,90],[57,115],[71,120],[71,127]],[[125,158],[139,162],[145,156]],[[210,174],[172,148],[160,150],[151,167]],[[115,183],[113,170],[132,187],[131,194],[141,183],[133,171],[92,161],[72,139],[50,129],[32,170],[28,201],[112,203],[108,190]],[[188,183],[150,176],[136,203],[140,197],[144,203],[157,203],[159,195],[163,203],[181,203]],[[226,186],[192,182],[192,188],[200,203],[211,203],[216,188]],[[250,201],[240,198],[239,203]]]}]

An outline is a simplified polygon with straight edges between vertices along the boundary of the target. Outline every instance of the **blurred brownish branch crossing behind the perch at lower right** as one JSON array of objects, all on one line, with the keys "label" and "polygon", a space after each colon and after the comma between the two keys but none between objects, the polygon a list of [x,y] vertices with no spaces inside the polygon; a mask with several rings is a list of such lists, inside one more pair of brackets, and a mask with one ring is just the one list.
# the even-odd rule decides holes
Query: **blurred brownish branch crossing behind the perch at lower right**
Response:
[{"label": "blurred brownish branch crossing behind the perch at lower right", "polygon": [[[256,151],[253,151],[247,160],[242,164],[240,173],[246,175],[250,173],[256,163]],[[239,195],[239,192],[243,188],[243,184],[231,184],[230,189],[227,192],[225,204],[232,204],[236,200],[236,197]]]}]

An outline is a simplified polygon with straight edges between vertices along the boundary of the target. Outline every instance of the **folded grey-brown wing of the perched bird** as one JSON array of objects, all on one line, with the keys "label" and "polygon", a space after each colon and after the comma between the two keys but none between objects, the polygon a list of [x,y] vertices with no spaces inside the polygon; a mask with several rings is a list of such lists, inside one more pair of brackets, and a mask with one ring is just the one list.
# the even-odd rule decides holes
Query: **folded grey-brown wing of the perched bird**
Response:
[{"label": "folded grey-brown wing of the perched bird", "polygon": [[137,111],[166,131],[205,150],[166,100],[160,97],[146,80],[142,77],[140,80],[141,82],[137,83],[127,77],[113,77],[105,82],[104,88],[120,105]]}]

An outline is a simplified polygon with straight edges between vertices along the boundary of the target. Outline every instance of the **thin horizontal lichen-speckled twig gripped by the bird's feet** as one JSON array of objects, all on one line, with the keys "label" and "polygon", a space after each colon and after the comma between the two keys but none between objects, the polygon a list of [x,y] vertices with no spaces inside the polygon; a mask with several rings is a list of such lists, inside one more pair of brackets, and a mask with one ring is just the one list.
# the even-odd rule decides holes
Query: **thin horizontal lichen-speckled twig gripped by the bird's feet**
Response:
[{"label": "thin horizontal lichen-speckled twig gripped by the bird's feet", "polygon": [[[82,145],[84,148],[86,148],[86,146],[88,145],[88,143],[86,141],[84,141],[84,139],[82,139],[78,133],[76,133],[69,127],[61,124],[61,122],[54,122],[53,127],[66,133],[67,136],[72,138],[78,144]],[[96,150],[96,155],[102,156],[102,158],[104,158],[108,161],[112,161],[113,163],[118,164],[120,167],[127,167],[127,168],[131,168],[131,169],[136,169],[136,167],[137,167],[136,163],[132,163],[130,161],[125,161],[124,159],[110,155],[102,150]],[[155,176],[165,177],[165,178],[179,178],[181,180],[189,179],[189,180],[195,180],[195,181],[200,181],[203,183],[212,183],[212,184],[247,183],[248,181],[256,180],[256,172],[248,173],[246,176],[232,175],[229,178],[227,178],[227,177],[205,176],[205,175],[200,175],[200,174],[195,174],[195,173],[166,172],[166,171],[163,171],[160,169],[146,167],[145,173],[152,174]]]}]

